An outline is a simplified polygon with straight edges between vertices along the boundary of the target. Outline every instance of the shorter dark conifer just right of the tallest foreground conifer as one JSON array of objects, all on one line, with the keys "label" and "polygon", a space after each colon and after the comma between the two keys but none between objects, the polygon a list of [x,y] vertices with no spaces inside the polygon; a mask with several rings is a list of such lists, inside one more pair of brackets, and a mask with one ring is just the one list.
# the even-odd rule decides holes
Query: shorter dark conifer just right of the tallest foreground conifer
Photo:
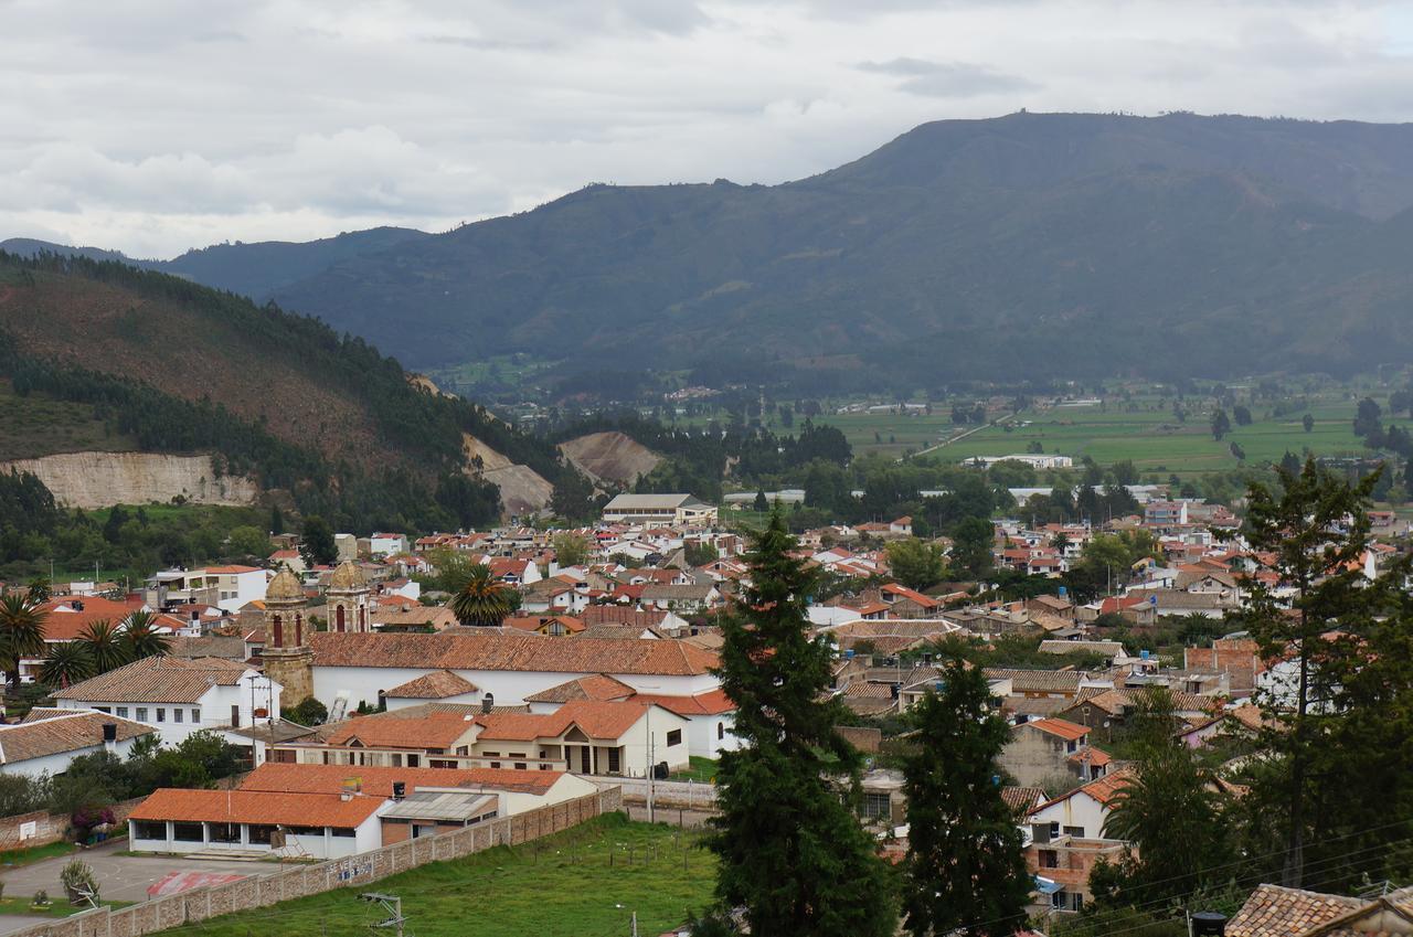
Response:
[{"label": "shorter dark conifer just right of the tallest foreground conifer", "polygon": [[1030,876],[996,763],[1010,731],[979,667],[947,664],[916,708],[904,763],[909,848],[904,927],[914,937],[1012,934],[1024,923]]}]

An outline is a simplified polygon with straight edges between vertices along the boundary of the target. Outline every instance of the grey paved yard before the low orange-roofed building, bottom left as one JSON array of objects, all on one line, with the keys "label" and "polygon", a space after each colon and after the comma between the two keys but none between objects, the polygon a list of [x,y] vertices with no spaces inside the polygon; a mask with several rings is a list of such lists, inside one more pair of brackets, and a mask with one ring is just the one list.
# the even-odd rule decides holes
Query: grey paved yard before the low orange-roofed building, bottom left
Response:
[{"label": "grey paved yard before the low orange-roofed building, bottom left", "polygon": [[[184,859],[181,856],[127,856],[117,855],[127,848],[127,841],[102,845],[76,854],[97,875],[99,895],[119,902],[147,900],[147,886],[153,885],[168,872],[227,872],[235,875],[270,875],[278,869],[270,862],[240,862],[230,859]],[[4,880],[4,893],[10,896],[34,895],[44,889],[55,900],[64,896],[64,886],[59,885],[59,871],[71,856],[44,859],[34,865],[23,865],[0,873]],[[10,924],[8,916],[0,916],[0,934]],[[17,930],[17,929],[10,929]]]}]

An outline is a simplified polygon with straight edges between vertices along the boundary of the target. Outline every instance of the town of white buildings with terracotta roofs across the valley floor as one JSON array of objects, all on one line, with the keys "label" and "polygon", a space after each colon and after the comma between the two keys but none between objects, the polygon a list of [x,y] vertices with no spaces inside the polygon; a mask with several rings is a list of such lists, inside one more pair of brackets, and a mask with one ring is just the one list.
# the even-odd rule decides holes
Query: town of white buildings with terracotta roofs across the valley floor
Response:
[{"label": "town of white buildings with terracotta roofs across the valley floor", "polygon": [[[1037,913],[1084,909],[1094,864],[1128,849],[1106,838],[1105,820],[1130,770],[1123,726],[1146,694],[1167,690],[1194,749],[1259,732],[1252,697],[1279,698],[1294,678],[1287,660],[1262,656],[1245,633],[1167,653],[1135,642],[1177,620],[1219,627],[1243,584],[1279,594],[1273,561],[1252,554],[1225,507],[1169,500],[1164,486],[1133,495],[1142,514],[1102,526],[992,524],[992,567],[1030,577],[1067,572],[1096,536],[1149,534],[1153,555],[1112,571],[1112,588],[1082,603],[1064,587],[1016,601],[978,601],[983,582],[909,588],[889,546],[913,540],[910,517],[798,538],[810,567],[861,584],[812,599],[808,620],[834,649],[829,693],[856,717],[849,738],[873,765],[862,821],[880,849],[900,854],[907,839],[903,779],[889,766],[894,717],[937,685],[950,643],[1034,652],[985,674],[1010,726],[1005,797]],[[715,668],[719,616],[749,582],[749,544],[719,510],[690,495],[619,495],[579,530],[336,534],[326,565],[277,536],[263,567],[167,570],[129,594],[52,584],[38,605],[47,649],[141,618],[165,653],[51,687],[0,726],[3,772],[61,776],[93,752],[122,758],[198,732],[236,746],[244,770],[233,790],[164,787],[124,807],[113,823],[126,823],[137,854],[331,859],[606,787],[630,804],[656,794],[709,811],[709,770],[674,779],[739,745]],[[1372,579],[1406,530],[1390,512],[1369,523],[1356,564]],[[578,555],[560,555],[571,543]],[[486,567],[513,591],[513,611],[492,626],[461,622],[451,596],[422,587],[448,557]],[[48,657],[20,660],[18,681],[42,681]]]}]

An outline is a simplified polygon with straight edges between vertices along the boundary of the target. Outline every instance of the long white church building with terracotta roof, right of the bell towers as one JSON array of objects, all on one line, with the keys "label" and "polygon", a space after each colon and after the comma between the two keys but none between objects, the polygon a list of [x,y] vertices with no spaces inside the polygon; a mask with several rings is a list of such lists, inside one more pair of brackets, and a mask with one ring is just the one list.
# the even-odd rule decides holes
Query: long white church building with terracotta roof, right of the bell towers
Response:
[{"label": "long white church building with terracotta roof, right of the bell towers", "polygon": [[349,708],[376,705],[389,691],[437,670],[476,690],[476,702],[520,705],[574,677],[609,674],[634,690],[691,697],[716,690],[716,654],[677,640],[545,639],[537,635],[333,633],[308,636],[314,649],[314,695]]}]

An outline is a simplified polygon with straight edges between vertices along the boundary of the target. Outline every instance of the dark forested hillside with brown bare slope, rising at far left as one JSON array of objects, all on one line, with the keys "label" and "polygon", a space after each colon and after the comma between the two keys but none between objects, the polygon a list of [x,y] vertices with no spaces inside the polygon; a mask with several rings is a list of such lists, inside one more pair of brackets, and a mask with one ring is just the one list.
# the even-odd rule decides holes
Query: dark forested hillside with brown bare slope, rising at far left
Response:
[{"label": "dark forested hillside with brown bare slope, rising at far left", "polygon": [[92,407],[138,449],[212,452],[345,529],[493,519],[497,492],[468,473],[466,432],[547,479],[569,471],[551,445],[414,384],[360,338],[110,261],[0,254],[0,377]]}]

